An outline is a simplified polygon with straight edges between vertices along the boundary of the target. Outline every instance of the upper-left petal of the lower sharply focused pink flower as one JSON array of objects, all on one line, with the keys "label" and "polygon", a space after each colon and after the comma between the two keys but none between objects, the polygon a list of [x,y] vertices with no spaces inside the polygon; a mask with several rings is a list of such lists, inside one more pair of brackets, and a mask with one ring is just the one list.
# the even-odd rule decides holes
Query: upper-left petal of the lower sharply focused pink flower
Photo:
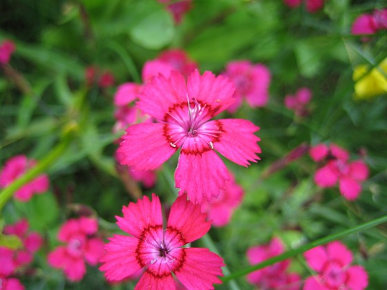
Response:
[{"label": "upper-left petal of the lower sharply focused pink flower", "polygon": [[140,238],[144,229],[149,226],[162,226],[162,212],[160,199],[154,193],[152,200],[144,196],[137,203],[130,202],[129,206],[122,207],[124,217],[116,216],[117,225],[136,238]]}]

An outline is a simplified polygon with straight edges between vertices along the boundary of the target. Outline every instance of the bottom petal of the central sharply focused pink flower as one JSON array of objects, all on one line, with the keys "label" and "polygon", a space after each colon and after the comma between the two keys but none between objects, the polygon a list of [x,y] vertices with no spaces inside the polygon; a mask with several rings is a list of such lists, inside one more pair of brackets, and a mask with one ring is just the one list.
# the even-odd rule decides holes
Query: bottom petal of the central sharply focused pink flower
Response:
[{"label": "bottom petal of the central sharply focused pink flower", "polygon": [[179,194],[187,193],[195,204],[211,202],[225,188],[229,173],[223,161],[211,149],[197,154],[180,153],[175,171]]}]

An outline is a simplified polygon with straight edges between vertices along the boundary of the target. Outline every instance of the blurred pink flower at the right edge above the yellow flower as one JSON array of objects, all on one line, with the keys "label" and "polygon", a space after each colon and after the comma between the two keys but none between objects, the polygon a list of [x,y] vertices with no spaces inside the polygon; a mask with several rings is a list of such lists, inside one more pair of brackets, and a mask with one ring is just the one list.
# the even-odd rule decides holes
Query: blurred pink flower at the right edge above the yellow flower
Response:
[{"label": "blurred pink flower at the right edge above the yellow flower", "polygon": [[[352,35],[373,35],[387,29],[387,9],[375,10],[372,14],[361,14],[352,23]],[[362,38],[367,41],[368,38]]]}]

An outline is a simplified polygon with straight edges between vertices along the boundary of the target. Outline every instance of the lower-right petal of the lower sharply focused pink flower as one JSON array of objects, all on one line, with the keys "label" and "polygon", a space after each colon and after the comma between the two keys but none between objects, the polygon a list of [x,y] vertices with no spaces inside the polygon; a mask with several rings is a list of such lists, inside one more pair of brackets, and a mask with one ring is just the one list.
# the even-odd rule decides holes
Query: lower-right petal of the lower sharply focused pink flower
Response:
[{"label": "lower-right petal of the lower sharply focused pink flower", "polygon": [[188,289],[214,289],[212,284],[221,283],[223,259],[208,249],[187,248],[185,262],[175,275]]}]

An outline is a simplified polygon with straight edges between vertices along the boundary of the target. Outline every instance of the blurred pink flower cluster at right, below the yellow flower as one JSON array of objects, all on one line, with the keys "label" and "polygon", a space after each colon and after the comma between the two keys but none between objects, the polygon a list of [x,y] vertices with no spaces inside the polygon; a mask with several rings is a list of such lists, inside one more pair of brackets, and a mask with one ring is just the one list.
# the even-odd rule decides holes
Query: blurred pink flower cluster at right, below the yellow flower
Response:
[{"label": "blurred pink flower cluster at right, below the yellow flower", "polygon": [[310,156],[315,162],[323,162],[314,175],[314,182],[325,188],[339,182],[341,195],[347,200],[355,200],[361,192],[361,182],[368,177],[368,166],[362,160],[349,162],[349,153],[337,144],[318,144],[310,148]]}]

